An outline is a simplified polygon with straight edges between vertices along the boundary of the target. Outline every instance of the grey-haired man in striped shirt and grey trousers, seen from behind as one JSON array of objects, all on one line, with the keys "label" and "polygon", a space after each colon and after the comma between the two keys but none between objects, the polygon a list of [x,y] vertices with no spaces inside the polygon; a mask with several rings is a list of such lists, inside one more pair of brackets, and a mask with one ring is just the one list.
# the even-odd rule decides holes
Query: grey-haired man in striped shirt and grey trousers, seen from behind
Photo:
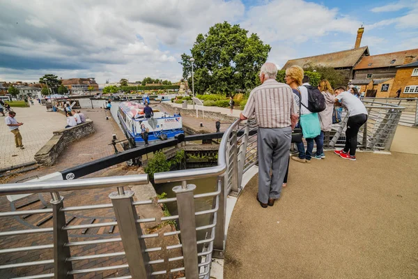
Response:
[{"label": "grey-haired man in striped shirt and grey trousers, seen from behind", "polygon": [[[291,134],[297,123],[298,107],[290,86],[276,81],[274,63],[261,66],[261,85],[249,94],[240,115],[245,120],[255,114],[258,125],[258,193],[263,208],[280,197],[286,174]],[[270,176],[271,170],[271,176]]]}]

